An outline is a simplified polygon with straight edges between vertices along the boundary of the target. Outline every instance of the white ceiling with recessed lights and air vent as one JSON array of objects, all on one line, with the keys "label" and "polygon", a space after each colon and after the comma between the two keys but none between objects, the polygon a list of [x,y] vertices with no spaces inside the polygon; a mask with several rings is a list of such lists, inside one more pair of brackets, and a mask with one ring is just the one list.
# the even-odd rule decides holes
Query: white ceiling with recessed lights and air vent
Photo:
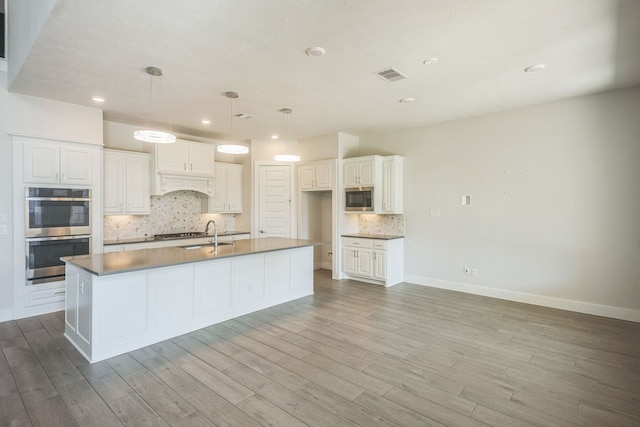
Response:
[{"label": "white ceiling with recessed lights and air vent", "polygon": [[638,85],[639,43],[638,0],[58,0],[9,89],[217,139],[363,135]]}]

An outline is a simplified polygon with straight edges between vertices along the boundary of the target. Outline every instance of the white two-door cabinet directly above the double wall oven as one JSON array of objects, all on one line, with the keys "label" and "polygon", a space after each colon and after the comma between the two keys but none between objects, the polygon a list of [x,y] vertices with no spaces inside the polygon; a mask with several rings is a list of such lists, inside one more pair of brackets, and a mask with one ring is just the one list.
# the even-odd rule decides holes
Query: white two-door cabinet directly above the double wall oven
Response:
[{"label": "white two-door cabinet directly above the double wall oven", "polygon": [[24,182],[91,185],[92,150],[79,144],[24,142]]}]

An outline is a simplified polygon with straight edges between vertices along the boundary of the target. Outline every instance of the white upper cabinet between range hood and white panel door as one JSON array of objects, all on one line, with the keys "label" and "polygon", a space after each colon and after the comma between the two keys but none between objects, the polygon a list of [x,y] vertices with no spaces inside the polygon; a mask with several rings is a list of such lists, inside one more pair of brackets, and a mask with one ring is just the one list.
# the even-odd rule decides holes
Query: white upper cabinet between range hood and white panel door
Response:
[{"label": "white upper cabinet between range hood and white panel door", "polygon": [[215,191],[202,200],[208,213],[242,213],[242,165],[216,162]]}]

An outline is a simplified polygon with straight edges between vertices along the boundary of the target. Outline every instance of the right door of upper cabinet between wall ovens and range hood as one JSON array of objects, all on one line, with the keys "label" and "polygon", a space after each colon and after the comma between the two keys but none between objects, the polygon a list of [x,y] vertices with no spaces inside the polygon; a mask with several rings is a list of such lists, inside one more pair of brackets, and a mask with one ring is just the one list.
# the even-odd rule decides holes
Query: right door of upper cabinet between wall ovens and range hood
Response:
[{"label": "right door of upper cabinet between wall ovens and range hood", "polygon": [[[146,155],[128,156],[125,176],[127,213],[150,213],[149,157]],[[107,184],[105,182],[105,188],[106,186]]]}]

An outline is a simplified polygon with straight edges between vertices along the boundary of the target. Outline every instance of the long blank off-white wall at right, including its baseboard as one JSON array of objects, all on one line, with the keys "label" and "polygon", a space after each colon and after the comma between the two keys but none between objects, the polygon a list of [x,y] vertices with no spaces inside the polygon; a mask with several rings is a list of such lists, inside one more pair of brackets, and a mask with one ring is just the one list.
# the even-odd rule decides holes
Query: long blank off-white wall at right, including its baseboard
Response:
[{"label": "long blank off-white wall at right, including its baseboard", "polygon": [[405,280],[640,321],[639,111],[636,87],[361,137],[406,156]]}]

